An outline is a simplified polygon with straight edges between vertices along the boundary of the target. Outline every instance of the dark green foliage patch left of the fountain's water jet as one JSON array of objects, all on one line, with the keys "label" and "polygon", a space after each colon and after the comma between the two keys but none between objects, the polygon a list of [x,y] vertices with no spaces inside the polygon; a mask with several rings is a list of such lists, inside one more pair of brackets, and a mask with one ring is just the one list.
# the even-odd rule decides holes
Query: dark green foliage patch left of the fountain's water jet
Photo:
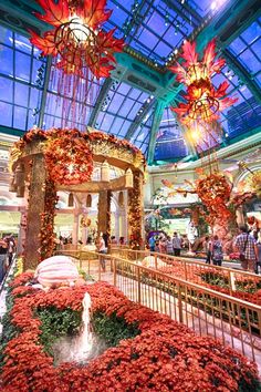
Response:
[{"label": "dark green foliage patch left of the fountain's water jet", "polygon": [[64,310],[54,307],[39,309],[36,312],[42,324],[40,336],[44,350],[53,355],[53,343],[64,336],[73,336],[79,332],[82,322],[82,312],[66,308]]}]

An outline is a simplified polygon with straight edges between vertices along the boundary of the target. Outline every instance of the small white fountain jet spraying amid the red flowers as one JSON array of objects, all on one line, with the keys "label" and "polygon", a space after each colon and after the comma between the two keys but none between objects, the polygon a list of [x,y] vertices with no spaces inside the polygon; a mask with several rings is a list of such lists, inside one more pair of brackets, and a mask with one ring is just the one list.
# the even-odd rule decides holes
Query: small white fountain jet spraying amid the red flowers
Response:
[{"label": "small white fountain jet spraying amid the red flowers", "polygon": [[91,297],[86,292],[83,299],[82,331],[75,337],[62,337],[53,345],[54,363],[86,363],[106,350],[106,344],[97,338],[91,327]]}]

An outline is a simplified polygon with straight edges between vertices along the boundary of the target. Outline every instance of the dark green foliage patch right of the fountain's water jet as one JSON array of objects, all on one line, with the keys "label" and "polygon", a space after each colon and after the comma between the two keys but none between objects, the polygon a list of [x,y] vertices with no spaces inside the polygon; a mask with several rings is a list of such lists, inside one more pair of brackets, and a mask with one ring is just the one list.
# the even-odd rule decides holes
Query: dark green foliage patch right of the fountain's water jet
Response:
[{"label": "dark green foliage patch right of the fountain's water jet", "polygon": [[124,318],[115,313],[107,316],[103,312],[95,312],[92,317],[94,332],[103,338],[108,347],[116,347],[123,339],[135,338],[140,331],[137,324],[128,324]]}]

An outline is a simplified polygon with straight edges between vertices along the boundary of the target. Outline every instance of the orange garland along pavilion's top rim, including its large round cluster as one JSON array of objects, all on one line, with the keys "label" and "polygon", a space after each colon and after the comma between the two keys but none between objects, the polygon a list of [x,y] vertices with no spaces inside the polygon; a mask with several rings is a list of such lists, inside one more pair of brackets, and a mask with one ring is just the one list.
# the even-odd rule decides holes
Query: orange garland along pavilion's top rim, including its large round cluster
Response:
[{"label": "orange garland along pavilion's top rim, including its large round cluster", "polygon": [[33,141],[44,142],[43,151],[50,178],[62,185],[90,180],[93,172],[92,142],[106,142],[119,149],[127,148],[135,154],[138,162],[145,165],[145,157],[137,147],[111,134],[100,131],[82,133],[76,128],[49,131],[32,128],[12,147],[10,167],[21,156],[25,145]]}]

